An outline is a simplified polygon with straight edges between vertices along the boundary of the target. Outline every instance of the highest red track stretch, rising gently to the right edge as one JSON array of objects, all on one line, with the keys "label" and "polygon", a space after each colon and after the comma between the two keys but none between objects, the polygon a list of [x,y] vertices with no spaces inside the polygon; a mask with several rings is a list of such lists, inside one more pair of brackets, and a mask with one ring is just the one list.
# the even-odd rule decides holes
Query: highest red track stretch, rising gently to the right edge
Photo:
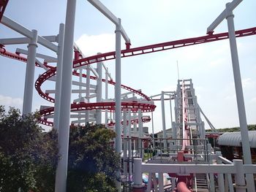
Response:
[{"label": "highest red track stretch, rising gently to the right edge", "polygon": [[[246,36],[255,35],[255,34],[256,34],[256,27],[246,28],[243,30],[236,31],[236,37],[246,37]],[[135,55],[142,55],[146,53],[154,53],[154,52],[158,52],[162,50],[170,50],[178,47],[186,47],[186,46],[197,45],[197,44],[202,44],[206,42],[215,42],[215,41],[219,41],[227,38],[228,38],[228,33],[208,34],[203,37],[181,39],[173,42],[163,42],[163,43],[147,45],[143,47],[135,47],[132,49],[121,50],[121,57],[125,58],[125,57],[130,57]],[[81,58],[73,62],[73,68],[77,68],[77,67],[88,65],[88,64],[94,64],[98,61],[108,61],[116,58],[115,55],[116,53],[113,51],[109,53],[93,55],[87,58]]]}]

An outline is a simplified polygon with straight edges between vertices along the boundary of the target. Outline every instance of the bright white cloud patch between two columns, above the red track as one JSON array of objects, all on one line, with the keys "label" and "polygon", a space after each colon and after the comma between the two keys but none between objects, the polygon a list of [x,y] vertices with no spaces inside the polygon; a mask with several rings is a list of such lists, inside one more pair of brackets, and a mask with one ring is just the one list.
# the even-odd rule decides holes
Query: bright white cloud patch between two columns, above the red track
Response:
[{"label": "bright white cloud patch between two columns, above the red track", "polygon": [[83,34],[75,43],[85,55],[96,55],[115,50],[115,34]]}]

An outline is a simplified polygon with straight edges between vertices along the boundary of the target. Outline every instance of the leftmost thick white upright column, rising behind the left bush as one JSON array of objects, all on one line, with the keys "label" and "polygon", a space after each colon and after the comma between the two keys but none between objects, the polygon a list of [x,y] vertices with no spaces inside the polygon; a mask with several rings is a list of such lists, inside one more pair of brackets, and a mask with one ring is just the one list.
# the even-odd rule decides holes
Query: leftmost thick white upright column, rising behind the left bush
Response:
[{"label": "leftmost thick white upright column, rising behind the left bush", "polygon": [[23,115],[28,115],[32,110],[33,89],[34,89],[34,68],[37,54],[37,30],[32,30],[33,37],[28,45],[28,60],[26,64],[26,78],[23,96]]}]

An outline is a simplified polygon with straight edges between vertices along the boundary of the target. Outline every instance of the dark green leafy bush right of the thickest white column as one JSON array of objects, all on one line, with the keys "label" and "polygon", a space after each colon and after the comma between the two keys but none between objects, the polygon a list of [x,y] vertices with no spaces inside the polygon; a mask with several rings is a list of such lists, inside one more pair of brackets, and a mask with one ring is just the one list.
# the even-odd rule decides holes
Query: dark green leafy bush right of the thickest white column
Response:
[{"label": "dark green leafy bush right of the thickest white column", "polygon": [[120,156],[110,145],[114,137],[102,125],[70,129],[67,191],[116,191]]}]

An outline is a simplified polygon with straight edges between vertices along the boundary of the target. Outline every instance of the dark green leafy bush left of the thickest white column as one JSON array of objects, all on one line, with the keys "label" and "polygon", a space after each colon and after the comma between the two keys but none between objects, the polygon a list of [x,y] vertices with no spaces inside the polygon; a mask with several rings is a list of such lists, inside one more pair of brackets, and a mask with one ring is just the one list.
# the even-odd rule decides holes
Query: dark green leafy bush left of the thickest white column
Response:
[{"label": "dark green leafy bush left of the thickest white column", "polygon": [[43,132],[38,117],[0,106],[0,191],[54,191],[57,134]]}]

